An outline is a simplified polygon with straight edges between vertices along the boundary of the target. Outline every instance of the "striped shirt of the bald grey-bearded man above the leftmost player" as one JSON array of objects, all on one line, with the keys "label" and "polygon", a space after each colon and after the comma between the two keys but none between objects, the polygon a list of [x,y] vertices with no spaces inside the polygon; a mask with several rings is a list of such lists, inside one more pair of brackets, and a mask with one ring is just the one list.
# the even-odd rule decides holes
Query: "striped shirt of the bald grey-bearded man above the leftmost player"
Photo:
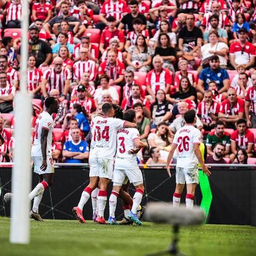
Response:
[{"label": "striped shirt of the bald grey-bearded man above the leftmost player", "polygon": [[62,67],[60,73],[56,73],[55,69],[51,67],[43,73],[42,78],[48,81],[48,92],[57,89],[61,94],[64,91],[65,81],[71,79],[71,73],[66,67]]}]

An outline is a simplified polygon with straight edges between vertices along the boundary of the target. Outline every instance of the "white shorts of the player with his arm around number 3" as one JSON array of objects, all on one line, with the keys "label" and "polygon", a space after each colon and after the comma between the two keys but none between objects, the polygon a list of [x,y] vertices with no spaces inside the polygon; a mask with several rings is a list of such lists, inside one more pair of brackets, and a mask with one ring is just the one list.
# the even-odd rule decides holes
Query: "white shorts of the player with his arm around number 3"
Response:
[{"label": "white shorts of the player with his arm around number 3", "polygon": [[89,159],[89,177],[100,177],[112,180],[114,160],[91,157]]}]

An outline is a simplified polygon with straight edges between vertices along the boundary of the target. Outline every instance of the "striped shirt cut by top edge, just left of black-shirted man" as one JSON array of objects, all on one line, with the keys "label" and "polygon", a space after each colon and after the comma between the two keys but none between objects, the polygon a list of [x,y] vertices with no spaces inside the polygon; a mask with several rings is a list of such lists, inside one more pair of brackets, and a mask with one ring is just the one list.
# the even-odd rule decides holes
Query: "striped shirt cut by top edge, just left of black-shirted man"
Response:
[{"label": "striped shirt cut by top edge, just left of black-shirted man", "polygon": [[116,2],[107,0],[102,8],[100,13],[105,14],[106,18],[109,16],[114,16],[117,21],[121,21],[124,13],[127,12],[127,4],[125,1],[117,0]]}]

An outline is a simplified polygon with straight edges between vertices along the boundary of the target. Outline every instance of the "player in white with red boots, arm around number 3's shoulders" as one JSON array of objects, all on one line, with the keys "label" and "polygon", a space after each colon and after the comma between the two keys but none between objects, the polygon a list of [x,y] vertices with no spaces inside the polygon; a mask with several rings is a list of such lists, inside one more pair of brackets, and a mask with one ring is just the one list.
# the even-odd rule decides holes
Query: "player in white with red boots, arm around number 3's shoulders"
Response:
[{"label": "player in white with red boots, arm around number 3's shoulders", "polygon": [[83,206],[100,181],[100,190],[97,196],[99,211],[96,222],[106,224],[104,210],[107,201],[107,184],[112,179],[114,169],[117,130],[124,127],[136,127],[136,124],[132,122],[114,119],[115,110],[110,103],[102,105],[102,112],[104,116],[94,115],[92,117],[92,140],[89,156],[90,183],[83,190],[78,205],[73,208],[73,213],[81,223],[85,223],[82,215]]}]

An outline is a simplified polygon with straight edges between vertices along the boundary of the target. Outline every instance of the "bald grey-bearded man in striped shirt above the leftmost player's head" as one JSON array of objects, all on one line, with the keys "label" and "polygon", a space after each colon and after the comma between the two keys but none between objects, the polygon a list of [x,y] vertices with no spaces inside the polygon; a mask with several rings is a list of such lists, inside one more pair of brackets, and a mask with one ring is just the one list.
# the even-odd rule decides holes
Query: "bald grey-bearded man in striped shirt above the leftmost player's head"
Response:
[{"label": "bald grey-bearded man in striped shirt above the leftmost player's head", "polygon": [[[49,68],[43,73],[41,89],[43,97],[48,96],[48,92],[52,89],[60,91],[60,101],[63,101],[67,97],[67,93],[70,90],[71,73],[66,67],[63,67],[63,60],[61,57],[53,59],[53,67]],[[47,85],[48,84],[48,85]]]}]

